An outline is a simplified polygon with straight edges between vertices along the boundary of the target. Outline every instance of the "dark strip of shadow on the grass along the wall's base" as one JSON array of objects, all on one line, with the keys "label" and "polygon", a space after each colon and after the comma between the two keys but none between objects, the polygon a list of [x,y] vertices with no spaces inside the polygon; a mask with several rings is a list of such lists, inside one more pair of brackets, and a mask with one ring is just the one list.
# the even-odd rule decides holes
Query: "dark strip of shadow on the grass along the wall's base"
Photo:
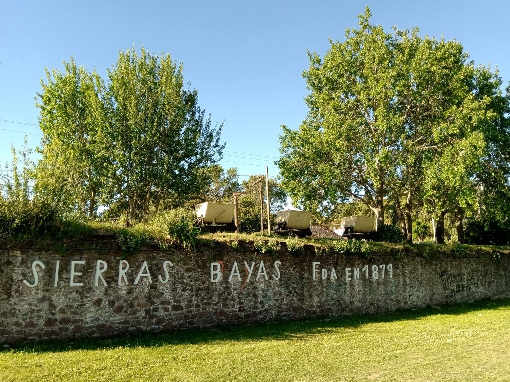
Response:
[{"label": "dark strip of shadow on the grass along the wall's base", "polygon": [[482,300],[474,303],[458,304],[438,308],[397,311],[391,314],[371,316],[345,316],[333,319],[313,318],[301,321],[259,322],[249,325],[221,326],[214,329],[183,330],[163,333],[141,333],[100,340],[83,338],[74,342],[45,341],[22,344],[3,351],[61,352],[72,350],[101,350],[117,347],[153,347],[165,345],[199,344],[223,341],[263,341],[305,338],[327,333],[336,329],[356,329],[370,323],[384,323],[417,320],[433,315],[460,315],[480,310],[493,310],[510,307],[510,298]]}]

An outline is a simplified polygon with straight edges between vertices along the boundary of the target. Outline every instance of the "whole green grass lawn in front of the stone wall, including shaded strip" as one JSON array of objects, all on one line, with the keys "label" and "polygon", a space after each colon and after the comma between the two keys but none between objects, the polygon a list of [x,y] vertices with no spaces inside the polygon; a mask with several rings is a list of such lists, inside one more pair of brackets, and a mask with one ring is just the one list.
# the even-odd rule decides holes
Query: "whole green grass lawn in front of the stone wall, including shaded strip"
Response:
[{"label": "whole green grass lawn in front of the stone wall, including shaded strip", "polygon": [[510,299],[0,351],[0,381],[508,381]]}]

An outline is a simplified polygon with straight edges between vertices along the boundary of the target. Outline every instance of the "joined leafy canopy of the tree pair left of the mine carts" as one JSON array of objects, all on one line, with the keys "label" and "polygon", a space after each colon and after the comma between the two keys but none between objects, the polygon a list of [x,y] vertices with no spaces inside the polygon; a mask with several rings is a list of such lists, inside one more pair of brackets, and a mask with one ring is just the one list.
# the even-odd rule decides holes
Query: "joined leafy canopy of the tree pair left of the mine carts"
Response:
[{"label": "joined leafy canopy of the tree pair left of the mine carts", "polygon": [[89,217],[97,200],[129,204],[134,219],[206,186],[205,169],[221,159],[222,126],[211,125],[197,91],[185,88],[182,64],[128,49],[106,85],[72,59],[64,67],[47,71],[39,94],[42,189],[68,190],[71,210]]}]

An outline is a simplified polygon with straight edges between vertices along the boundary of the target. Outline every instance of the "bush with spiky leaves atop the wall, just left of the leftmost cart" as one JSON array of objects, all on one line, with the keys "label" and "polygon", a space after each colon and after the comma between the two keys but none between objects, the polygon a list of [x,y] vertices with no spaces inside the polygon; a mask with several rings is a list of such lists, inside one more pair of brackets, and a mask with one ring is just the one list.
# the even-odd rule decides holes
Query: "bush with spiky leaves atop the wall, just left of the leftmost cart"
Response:
[{"label": "bush with spiky leaves atop the wall, just left of the leftmost cart", "polygon": [[195,249],[199,234],[195,226],[195,214],[185,208],[174,208],[150,216],[147,226],[151,230],[152,238],[160,244],[179,243],[186,250]]}]

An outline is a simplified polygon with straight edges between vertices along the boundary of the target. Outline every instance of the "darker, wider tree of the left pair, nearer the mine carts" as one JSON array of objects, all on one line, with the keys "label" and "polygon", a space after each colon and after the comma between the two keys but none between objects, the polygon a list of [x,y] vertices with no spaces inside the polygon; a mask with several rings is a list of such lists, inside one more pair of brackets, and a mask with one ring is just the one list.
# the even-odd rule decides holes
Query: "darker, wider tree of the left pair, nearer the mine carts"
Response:
[{"label": "darker, wider tree of the left pair, nearer the mine carts", "polygon": [[200,170],[221,159],[221,126],[211,126],[196,90],[184,88],[182,64],[128,49],[108,78],[112,194],[129,202],[129,219],[203,189],[208,177]]}]

